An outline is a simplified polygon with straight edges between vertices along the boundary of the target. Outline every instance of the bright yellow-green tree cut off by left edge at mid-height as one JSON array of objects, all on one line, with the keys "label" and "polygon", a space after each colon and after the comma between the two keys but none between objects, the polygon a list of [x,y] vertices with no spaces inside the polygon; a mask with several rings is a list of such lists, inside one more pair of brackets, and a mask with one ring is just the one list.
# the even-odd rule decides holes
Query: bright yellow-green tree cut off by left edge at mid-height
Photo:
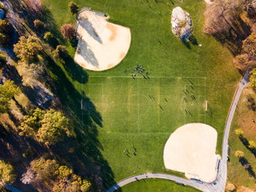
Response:
[{"label": "bright yellow-green tree cut off by left edge at mid-height", "polygon": [[0,85],[0,114],[6,113],[10,108],[10,99],[21,92],[13,81],[7,80]]}]

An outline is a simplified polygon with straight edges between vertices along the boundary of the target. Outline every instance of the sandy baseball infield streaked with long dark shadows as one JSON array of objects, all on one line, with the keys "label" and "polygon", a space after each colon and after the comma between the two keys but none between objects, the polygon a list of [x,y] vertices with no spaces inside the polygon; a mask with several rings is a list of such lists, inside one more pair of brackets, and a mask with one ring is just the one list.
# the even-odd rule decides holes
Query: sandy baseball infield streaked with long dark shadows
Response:
[{"label": "sandy baseball infield streaked with long dark shadows", "polygon": [[84,9],[77,20],[78,47],[74,61],[87,70],[108,70],[125,58],[130,29],[107,22],[104,14]]}]

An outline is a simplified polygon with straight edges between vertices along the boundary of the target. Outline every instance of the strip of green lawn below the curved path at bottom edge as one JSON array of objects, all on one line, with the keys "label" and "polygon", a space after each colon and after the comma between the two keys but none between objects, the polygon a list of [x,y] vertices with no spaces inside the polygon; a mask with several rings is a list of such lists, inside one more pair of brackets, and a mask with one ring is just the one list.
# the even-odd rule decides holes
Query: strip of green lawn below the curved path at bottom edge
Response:
[{"label": "strip of green lawn below the curved path at bottom edge", "polygon": [[181,186],[174,182],[170,182],[164,179],[144,179],[139,182],[132,182],[126,186],[122,187],[123,192],[130,191],[147,191],[147,192],[155,192],[155,191],[171,191],[171,192],[196,192],[196,190],[190,186]]}]

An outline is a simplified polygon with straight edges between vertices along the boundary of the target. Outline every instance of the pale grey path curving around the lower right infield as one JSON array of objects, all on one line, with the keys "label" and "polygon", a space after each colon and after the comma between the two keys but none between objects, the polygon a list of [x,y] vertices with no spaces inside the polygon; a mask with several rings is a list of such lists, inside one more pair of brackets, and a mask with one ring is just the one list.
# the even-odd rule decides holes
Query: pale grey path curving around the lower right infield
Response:
[{"label": "pale grey path curving around the lower right infield", "polygon": [[125,186],[130,182],[136,182],[138,180],[142,180],[146,178],[163,178],[163,179],[177,182],[178,184],[181,184],[184,186],[192,186],[198,190],[202,190],[205,192],[224,192],[225,186],[226,186],[226,176],[227,176],[227,159],[228,159],[228,148],[229,148],[228,138],[230,134],[230,126],[231,126],[232,119],[234,117],[234,112],[237,107],[237,103],[242,94],[242,90],[249,82],[248,76],[249,76],[249,70],[246,71],[246,74],[243,76],[242,80],[239,82],[238,89],[234,94],[234,100],[230,107],[228,118],[226,120],[225,132],[224,132],[223,143],[222,143],[222,159],[220,159],[219,161],[218,174],[214,182],[207,183],[207,182],[200,182],[192,179],[188,180],[188,179],[179,178],[170,174],[148,173],[148,174],[139,174],[130,178],[125,178],[122,181],[117,182],[114,186],[110,187],[110,189],[106,190],[106,192],[112,192],[122,186]]}]

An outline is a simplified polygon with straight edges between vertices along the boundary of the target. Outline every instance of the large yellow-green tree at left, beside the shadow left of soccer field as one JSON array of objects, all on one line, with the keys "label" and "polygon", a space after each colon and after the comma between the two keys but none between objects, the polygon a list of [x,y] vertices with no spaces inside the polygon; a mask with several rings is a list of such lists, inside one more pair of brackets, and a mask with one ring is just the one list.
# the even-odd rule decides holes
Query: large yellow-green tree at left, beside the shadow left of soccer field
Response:
[{"label": "large yellow-green tree at left, beside the shadow left of soccer field", "polygon": [[38,130],[38,141],[46,145],[54,145],[64,139],[64,135],[70,136],[70,121],[61,112],[48,110],[42,118],[42,127]]}]

